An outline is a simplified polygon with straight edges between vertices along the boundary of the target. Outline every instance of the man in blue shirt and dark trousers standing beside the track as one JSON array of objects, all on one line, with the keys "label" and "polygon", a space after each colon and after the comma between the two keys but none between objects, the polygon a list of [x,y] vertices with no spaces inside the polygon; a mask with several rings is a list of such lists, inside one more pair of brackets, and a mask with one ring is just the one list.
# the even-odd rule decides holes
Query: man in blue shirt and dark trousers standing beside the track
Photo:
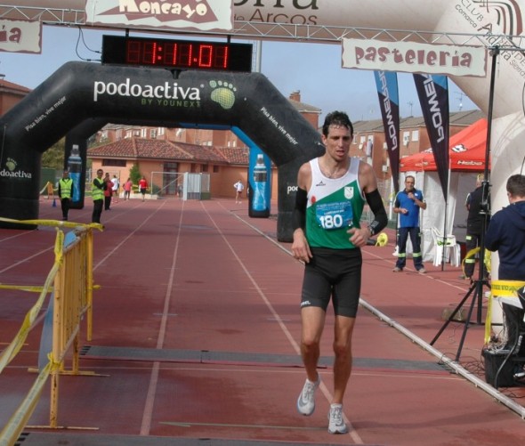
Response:
[{"label": "man in blue shirt and dark trousers standing beside the track", "polygon": [[412,258],[417,272],[424,274],[421,255],[421,233],[419,231],[419,209],[426,209],[423,192],[417,191],[412,175],[405,178],[405,190],[399,191],[394,202],[394,212],[400,215],[398,228],[398,261],[393,272],[401,272],[407,264],[407,240],[412,242]]}]

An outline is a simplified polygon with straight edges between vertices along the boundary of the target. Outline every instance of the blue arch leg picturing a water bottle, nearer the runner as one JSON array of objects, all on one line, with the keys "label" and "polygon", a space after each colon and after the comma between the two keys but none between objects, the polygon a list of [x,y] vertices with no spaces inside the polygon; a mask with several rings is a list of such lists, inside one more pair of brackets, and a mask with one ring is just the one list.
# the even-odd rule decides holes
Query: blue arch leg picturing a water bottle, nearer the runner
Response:
[{"label": "blue arch leg picturing a water bottle, nearer the runner", "polygon": [[250,148],[248,167],[248,215],[250,217],[270,216],[271,201],[271,159],[258,147]]}]

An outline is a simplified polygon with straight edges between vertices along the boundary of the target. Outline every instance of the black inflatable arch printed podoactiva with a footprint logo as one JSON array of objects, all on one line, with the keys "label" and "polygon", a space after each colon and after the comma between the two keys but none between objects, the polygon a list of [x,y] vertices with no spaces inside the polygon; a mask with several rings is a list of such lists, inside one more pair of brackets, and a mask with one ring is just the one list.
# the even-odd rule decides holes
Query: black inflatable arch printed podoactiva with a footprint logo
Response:
[{"label": "black inflatable arch printed podoactiva with a footprint logo", "polygon": [[259,73],[64,64],[0,118],[2,216],[38,217],[41,155],[64,135],[85,162],[86,139],[107,123],[179,122],[237,126],[271,158],[279,171],[278,239],[290,241],[298,168],[324,146],[317,129]]}]

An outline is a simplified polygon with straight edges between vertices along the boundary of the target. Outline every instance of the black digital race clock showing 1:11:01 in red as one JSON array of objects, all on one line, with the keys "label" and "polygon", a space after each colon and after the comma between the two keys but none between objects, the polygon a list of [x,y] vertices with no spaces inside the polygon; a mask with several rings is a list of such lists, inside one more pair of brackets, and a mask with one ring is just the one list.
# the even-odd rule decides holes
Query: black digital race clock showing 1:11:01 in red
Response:
[{"label": "black digital race clock showing 1:11:01 in red", "polygon": [[165,69],[252,70],[251,44],[102,37],[102,63]]}]

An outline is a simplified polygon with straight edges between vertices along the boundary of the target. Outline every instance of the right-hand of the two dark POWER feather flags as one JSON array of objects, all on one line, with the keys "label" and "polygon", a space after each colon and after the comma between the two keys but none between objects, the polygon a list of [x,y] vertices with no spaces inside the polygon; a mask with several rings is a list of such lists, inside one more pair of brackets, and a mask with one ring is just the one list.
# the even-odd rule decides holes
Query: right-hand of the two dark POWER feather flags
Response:
[{"label": "right-hand of the two dark POWER feather flags", "polygon": [[441,75],[415,74],[419,103],[430,143],[441,191],[447,201],[448,195],[448,80]]}]

